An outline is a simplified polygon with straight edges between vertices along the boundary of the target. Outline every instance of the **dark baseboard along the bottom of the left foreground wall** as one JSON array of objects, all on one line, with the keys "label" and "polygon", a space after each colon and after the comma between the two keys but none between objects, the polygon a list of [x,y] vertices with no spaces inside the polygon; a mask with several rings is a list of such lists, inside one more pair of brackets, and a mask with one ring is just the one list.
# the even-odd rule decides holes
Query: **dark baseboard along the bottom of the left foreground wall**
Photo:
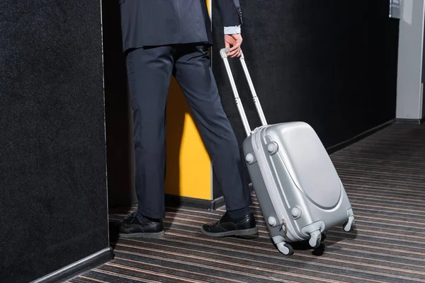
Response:
[{"label": "dark baseboard along the bottom of the left foreground wall", "polygon": [[92,270],[104,263],[113,259],[113,250],[111,247],[104,248],[103,250],[89,255],[77,262],[67,265],[60,270],[45,275],[39,279],[34,280],[31,283],[60,283],[66,282],[69,279],[77,277],[84,272]]}]

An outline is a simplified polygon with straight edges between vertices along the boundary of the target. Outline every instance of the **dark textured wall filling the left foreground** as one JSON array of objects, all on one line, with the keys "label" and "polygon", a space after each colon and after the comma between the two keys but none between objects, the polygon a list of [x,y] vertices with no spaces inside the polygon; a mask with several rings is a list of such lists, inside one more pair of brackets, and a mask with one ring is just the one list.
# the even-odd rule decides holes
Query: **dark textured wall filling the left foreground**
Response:
[{"label": "dark textured wall filling the left foreground", "polygon": [[0,281],[108,247],[99,1],[0,4]]}]

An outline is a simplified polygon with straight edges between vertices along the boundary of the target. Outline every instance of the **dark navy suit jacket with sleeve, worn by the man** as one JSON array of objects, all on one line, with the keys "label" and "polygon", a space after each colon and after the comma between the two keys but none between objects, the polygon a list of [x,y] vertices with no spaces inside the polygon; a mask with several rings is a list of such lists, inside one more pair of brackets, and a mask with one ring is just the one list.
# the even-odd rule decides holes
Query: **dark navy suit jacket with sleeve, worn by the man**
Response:
[{"label": "dark navy suit jacket with sleeve, worn by the man", "polygon": [[[239,0],[216,1],[225,27],[242,24]],[[212,45],[205,0],[119,0],[123,50],[184,43]]]}]

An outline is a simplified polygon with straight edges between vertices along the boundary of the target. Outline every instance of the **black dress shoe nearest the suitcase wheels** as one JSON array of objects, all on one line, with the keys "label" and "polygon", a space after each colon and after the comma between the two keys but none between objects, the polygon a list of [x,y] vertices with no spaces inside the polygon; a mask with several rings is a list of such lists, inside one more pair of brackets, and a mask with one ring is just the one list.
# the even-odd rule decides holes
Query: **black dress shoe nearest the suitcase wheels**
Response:
[{"label": "black dress shoe nearest the suitcase wheels", "polygon": [[208,236],[250,236],[258,232],[253,214],[232,218],[228,212],[215,224],[205,224],[201,231]]}]

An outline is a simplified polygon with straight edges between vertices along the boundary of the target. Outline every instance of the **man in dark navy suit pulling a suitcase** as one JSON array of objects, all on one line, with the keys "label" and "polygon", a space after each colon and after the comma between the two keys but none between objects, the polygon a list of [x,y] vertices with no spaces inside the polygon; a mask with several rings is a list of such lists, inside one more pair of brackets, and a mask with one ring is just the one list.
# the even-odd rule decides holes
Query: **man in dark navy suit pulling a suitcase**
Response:
[{"label": "man in dark navy suit pulling a suitcase", "polygon": [[[211,23],[205,0],[119,0],[133,109],[137,211],[120,224],[123,237],[164,235],[165,108],[171,75],[182,88],[225,198],[227,212],[205,224],[209,236],[250,235],[256,223],[237,139],[210,69]],[[242,51],[239,0],[216,1],[228,57]]]}]

